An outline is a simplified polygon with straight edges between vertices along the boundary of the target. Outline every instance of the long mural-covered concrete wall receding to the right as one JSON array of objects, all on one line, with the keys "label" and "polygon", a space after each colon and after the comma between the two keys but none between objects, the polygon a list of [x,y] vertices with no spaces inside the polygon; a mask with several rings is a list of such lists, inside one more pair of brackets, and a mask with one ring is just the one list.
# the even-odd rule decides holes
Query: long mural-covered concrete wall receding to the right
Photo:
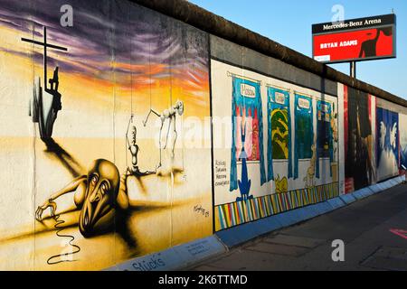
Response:
[{"label": "long mural-covered concrete wall receding to the right", "polygon": [[[107,268],[407,166],[402,98],[187,2],[133,2],[0,0],[0,269]],[[67,49],[47,79],[44,26]]]}]

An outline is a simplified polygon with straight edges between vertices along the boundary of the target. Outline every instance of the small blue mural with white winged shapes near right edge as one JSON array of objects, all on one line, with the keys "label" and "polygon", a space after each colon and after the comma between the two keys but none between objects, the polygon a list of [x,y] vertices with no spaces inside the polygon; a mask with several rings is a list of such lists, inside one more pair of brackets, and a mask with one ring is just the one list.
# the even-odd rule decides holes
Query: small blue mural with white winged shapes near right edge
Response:
[{"label": "small blue mural with white winged shapes near right edge", "polygon": [[376,108],[377,179],[382,181],[399,173],[399,115]]}]

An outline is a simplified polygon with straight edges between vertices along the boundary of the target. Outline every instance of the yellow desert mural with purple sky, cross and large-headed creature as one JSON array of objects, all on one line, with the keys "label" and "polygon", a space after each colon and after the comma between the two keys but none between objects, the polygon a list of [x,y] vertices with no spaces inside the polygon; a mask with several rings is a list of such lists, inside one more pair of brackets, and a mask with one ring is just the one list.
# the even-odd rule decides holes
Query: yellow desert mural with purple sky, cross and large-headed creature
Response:
[{"label": "yellow desert mural with purple sky, cross and large-headed creature", "polygon": [[125,1],[70,1],[64,27],[65,4],[0,0],[0,268],[102,269],[210,235],[208,35]]}]

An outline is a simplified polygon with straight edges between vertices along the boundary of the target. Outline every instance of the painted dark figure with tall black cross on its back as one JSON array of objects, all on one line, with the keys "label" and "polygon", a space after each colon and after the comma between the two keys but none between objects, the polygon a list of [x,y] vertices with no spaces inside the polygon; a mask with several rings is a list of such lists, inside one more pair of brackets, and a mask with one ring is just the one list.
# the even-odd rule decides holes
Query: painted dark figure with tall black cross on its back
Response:
[{"label": "painted dark figure with tall black cross on its back", "polygon": [[41,79],[37,77],[34,83],[33,98],[30,100],[29,116],[33,117],[34,123],[39,124],[41,139],[47,142],[52,137],[53,123],[57,118],[58,111],[62,109],[62,96],[58,91],[60,84],[58,66],[53,71],[52,79],[47,79],[47,48],[59,51],[68,51],[68,49],[47,43],[47,28],[45,26],[43,27],[43,42],[26,38],[21,40],[43,46],[43,88],[41,87]]}]

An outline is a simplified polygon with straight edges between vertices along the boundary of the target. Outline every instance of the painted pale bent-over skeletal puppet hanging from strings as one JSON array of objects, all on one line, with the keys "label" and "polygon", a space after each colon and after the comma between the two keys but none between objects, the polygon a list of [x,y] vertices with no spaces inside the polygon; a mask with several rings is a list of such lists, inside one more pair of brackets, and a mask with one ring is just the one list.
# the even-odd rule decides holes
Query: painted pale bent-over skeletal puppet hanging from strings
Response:
[{"label": "painted pale bent-over skeletal puppet hanging from strings", "polygon": [[[173,125],[174,141],[173,141],[172,148],[171,148],[171,153],[172,153],[171,157],[174,159],[174,148],[175,148],[175,142],[176,142],[176,137],[177,137],[176,127],[175,127],[175,118],[176,118],[176,114],[178,114],[179,116],[182,116],[184,114],[184,102],[182,102],[181,100],[177,100],[175,102],[174,106],[169,107],[168,109],[164,110],[161,115],[158,114],[154,109],[150,108],[150,111],[148,112],[146,120],[143,121],[144,126],[147,126],[148,117],[150,117],[151,113],[156,115],[156,117],[159,117],[161,120],[160,135],[159,135],[159,145],[160,145],[160,163],[158,164],[158,168],[159,168],[159,167],[161,167],[161,133],[163,131],[164,123],[166,122],[166,119],[168,119],[169,123],[168,123],[168,131],[166,132],[166,144],[168,143],[168,135],[170,133],[171,125]],[[166,144],[164,145],[164,149],[166,149]]]}]

